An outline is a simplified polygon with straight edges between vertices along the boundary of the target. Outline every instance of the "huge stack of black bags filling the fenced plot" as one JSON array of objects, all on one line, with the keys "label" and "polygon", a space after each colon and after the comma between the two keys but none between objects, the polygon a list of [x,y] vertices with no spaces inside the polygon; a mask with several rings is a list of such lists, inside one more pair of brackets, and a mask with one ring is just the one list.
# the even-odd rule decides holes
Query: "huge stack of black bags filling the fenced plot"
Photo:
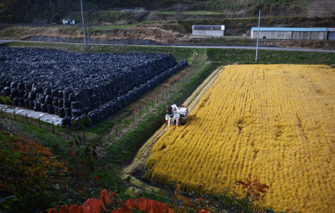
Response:
[{"label": "huge stack of black bags filling the fenced plot", "polygon": [[88,115],[89,127],[185,66],[169,54],[0,48],[0,95],[13,105],[56,114],[63,125]]}]

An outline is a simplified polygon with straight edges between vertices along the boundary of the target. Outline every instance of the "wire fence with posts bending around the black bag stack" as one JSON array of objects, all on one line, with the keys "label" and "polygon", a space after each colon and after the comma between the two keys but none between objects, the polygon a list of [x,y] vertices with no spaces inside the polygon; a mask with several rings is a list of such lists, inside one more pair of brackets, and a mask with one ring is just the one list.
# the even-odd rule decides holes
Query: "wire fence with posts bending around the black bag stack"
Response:
[{"label": "wire fence with posts bending around the black bag stack", "polygon": [[174,92],[177,92],[181,85],[189,80],[195,73],[197,73],[201,66],[204,64],[203,61],[192,61],[192,69],[186,72],[179,80],[173,83],[169,83],[165,89],[157,91],[152,95],[149,100],[145,101],[137,110],[132,114],[125,116],[122,121],[115,124],[114,127],[110,128],[103,134],[97,135],[93,133],[86,132],[84,129],[76,129],[69,126],[61,126],[59,123],[51,121],[50,123],[44,122],[43,120],[36,118],[31,118],[28,114],[17,113],[13,111],[9,112],[9,108],[1,108],[1,117],[2,119],[14,120],[17,122],[22,122],[27,125],[35,126],[40,129],[52,132],[58,136],[61,136],[64,140],[70,140],[73,137],[79,137],[83,140],[84,143],[91,141],[104,142],[113,142],[117,139],[118,136],[127,132],[130,128],[136,125],[136,122],[142,119],[148,112],[156,107],[157,104],[165,101],[169,95]]}]

